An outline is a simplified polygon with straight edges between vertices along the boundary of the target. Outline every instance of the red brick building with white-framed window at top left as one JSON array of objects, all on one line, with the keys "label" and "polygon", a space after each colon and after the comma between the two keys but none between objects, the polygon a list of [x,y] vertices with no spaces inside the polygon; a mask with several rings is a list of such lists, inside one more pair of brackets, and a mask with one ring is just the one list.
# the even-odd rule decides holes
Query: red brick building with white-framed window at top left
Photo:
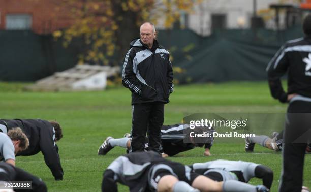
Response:
[{"label": "red brick building with white-framed window at top left", "polygon": [[30,29],[49,34],[74,22],[62,0],[0,0],[0,30]]}]

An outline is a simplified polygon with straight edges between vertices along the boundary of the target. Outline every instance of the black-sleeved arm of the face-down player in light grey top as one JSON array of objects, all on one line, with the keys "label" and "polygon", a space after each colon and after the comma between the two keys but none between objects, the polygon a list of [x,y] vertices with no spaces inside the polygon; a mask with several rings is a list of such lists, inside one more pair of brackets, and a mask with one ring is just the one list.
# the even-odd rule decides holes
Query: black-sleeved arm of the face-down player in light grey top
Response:
[{"label": "black-sleeved arm of the face-down player in light grey top", "polygon": [[263,165],[258,165],[255,168],[255,177],[262,179],[262,184],[267,188],[271,188],[273,182],[273,171]]}]

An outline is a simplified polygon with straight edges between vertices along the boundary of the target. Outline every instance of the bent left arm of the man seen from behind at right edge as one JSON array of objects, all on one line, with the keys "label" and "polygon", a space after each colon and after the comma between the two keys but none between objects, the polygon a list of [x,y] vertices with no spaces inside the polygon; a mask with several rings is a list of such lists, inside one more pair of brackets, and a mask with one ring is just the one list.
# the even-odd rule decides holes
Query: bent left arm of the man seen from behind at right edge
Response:
[{"label": "bent left arm of the man seen from behind at right edge", "polygon": [[271,95],[282,103],[287,102],[287,93],[284,91],[281,83],[281,77],[286,73],[289,65],[285,49],[286,46],[284,45],[278,50],[266,69]]}]

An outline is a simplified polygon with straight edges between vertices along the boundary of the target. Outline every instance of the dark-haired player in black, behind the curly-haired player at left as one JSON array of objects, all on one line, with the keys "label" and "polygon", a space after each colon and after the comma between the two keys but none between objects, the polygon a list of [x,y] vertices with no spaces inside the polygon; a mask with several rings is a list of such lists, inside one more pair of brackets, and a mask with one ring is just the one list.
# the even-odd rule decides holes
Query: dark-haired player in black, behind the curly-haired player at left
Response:
[{"label": "dark-haired player in black, behind the curly-haired player at left", "polygon": [[56,145],[63,137],[60,125],[56,121],[42,119],[0,119],[0,132],[7,133],[13,127],[20,127],[29,139],[27,150],[18,152],[16,156],[29,156],[41,151],[55,180],[62,180],[64,172]]}]

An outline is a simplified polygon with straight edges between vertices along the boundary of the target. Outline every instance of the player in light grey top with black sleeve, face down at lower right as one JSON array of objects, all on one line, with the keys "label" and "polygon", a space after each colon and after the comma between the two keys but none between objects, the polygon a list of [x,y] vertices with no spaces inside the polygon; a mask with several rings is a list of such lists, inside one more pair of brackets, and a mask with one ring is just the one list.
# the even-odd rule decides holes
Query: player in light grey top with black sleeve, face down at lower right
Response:
[{"label": "player in light grey top with black sleeve, face down at lower right", "polygon": [[215,181],[237,180],[248,183],[251,178],[262,179],[262,184],[271,188],[273,171],[263,165],[252,162],[216,160],[195,163],[190,166],[196,173],[205,175]]}]

